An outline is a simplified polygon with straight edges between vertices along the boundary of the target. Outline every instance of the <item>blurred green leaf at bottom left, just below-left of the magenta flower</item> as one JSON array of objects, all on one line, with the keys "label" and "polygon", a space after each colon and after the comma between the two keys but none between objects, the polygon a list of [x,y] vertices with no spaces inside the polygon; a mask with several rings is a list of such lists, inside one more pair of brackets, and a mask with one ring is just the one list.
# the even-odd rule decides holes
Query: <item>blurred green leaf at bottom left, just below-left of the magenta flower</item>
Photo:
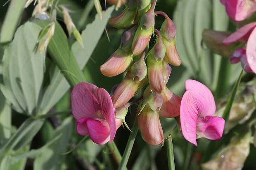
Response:
[{"label": "blurred green leaf at bottom left, just below-left of the magenta flower", "polygon": [[57,139],[55,145],[52,147],[47,147],[44,149],[43,154],[37,157],[34,161],[34,170],[59,170],[64,157],[62,155],[55,154],[52,149],[58,153],[64,153],[67,150],[67,144],[69,143],[70,136],[72,133],[73,122],[72,117],[67,117],[62,122],[62,125],[59,126],[52,135],[52,139],[55,136],[62,134],[62,136]]}]

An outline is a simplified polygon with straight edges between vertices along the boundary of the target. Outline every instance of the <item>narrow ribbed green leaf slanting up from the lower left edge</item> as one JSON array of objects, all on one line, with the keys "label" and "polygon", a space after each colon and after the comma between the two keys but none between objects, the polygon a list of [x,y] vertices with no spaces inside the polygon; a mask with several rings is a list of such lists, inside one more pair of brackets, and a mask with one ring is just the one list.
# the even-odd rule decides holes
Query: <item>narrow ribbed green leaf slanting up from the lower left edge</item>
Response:
[{"label": "narrow ribbed green leaf slanting up from the lower left edge", "polygon": [[27,145],[28,142],[33,139],[36,133],[38,133],[43,125],[43,122],[43,119],[26,119],[26,121],[21,124],[19,129],[12,135],[12,137],[9,138],[5,144],[0,145],[2,153],[0,155],[0,160],[2,160],[6,154],[9,154],[11,150],[17,150]]}]

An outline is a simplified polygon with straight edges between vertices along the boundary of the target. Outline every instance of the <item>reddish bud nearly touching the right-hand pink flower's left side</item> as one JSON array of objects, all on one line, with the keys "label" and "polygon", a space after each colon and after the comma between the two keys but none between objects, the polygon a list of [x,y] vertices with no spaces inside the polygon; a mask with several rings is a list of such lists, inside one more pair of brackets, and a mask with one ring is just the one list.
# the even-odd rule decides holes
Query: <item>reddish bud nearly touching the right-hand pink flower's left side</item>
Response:
[{"label": "reddish bud nearly touching the right-hand pink flower's left side", "polygon": [[159,117],[171,118],[180,115],[181,98],[171,92],[166,86],[161,95],[163,96],[163,104],[159,111]]}]

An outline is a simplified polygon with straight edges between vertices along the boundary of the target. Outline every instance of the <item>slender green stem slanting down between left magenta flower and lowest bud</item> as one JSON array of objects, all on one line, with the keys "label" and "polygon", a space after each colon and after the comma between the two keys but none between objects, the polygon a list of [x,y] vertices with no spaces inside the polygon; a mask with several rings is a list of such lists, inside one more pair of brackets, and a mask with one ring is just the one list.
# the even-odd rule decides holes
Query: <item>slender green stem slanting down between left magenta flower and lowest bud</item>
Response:
[{"label": "slender green stem slanting down between left magenta flower and lowest bud", "polygon": [[139,126],[138,126],[137,114],[136,114],[136,117],[133,123],[133,129],[132,129],[133,132],[130,133],[130,137],[128,139],[126,149],[124,150],[123,158],[121,160],[118,170],[123,170],[124,168],[126,168],[128,159],[130,157],[130,152],[132,151],[133,144],[134,144],[138,130],[139,130]]}]

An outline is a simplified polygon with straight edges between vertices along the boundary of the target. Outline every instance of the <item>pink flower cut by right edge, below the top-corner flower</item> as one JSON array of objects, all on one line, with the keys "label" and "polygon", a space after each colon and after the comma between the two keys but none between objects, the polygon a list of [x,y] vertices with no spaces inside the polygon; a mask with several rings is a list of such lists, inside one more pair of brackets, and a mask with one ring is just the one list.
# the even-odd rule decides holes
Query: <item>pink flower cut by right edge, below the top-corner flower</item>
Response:
[{"label": "pink flower cut by right edge, below the top-corner flower", "polygon": [[[233,42],[247,42],[246,55],[241,58],[243,63],[248,63],[248,67],[256,73],[256,22],[244,25],[242,28],[232,33],[223,40],[223,44],[228,45]],[[247,67],[247,66],[246,66]],[[249,71],[251,72],[251,71]]]}]

